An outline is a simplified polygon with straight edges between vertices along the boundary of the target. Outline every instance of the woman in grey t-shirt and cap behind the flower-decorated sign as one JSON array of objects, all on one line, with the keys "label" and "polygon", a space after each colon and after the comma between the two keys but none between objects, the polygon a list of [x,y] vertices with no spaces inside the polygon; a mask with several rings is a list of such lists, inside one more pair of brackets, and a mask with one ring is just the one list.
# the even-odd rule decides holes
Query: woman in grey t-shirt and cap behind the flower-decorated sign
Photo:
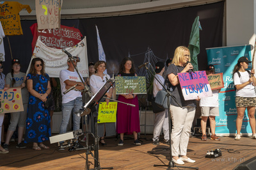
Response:
[{"label": "woman in grey t-shirt and cap behind the flower-decorated sign", "polygon": [[26,148],[21,142],[26,127],[27,109],[28,109],[28,89],[26,88],[26,73],[20,72],[20,60],[12,60],[12,71],[6,75],[4,90],[9,88],[21,88],[22,103],[24,111],[11,112],[10,125],[6,134],[6,141],[3,145],[5,150],[8,150],[8,145],[13,132],[18,128],[18,144],[16,148]]}]

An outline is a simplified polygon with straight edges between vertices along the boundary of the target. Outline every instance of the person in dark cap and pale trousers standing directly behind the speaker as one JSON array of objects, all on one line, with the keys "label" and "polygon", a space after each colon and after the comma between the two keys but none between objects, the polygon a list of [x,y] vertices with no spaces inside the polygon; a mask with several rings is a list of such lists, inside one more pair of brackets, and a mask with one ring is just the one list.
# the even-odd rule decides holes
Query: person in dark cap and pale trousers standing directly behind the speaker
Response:
[{"label": "person in dark cap and pale trousers standing directly behind the speaker", "polygon": [[[153,95],[156,97],[158,91],[163,89],[163,86],[156,80],[158,79],[162,84],[164,84],[163,72],[164,72],[164,63],[156,63],[156,75],[153,81]],[[155,114],[155,123],[154,123],[154,135],[153,143],[154,145],[159,145],[159,135],[163,128],[164,132],[164,141],[166,144],[170,145],[170,136],[169,136],[169,121],[168,121],[168,109],[165,109],[162,112],[157,112]]]}]

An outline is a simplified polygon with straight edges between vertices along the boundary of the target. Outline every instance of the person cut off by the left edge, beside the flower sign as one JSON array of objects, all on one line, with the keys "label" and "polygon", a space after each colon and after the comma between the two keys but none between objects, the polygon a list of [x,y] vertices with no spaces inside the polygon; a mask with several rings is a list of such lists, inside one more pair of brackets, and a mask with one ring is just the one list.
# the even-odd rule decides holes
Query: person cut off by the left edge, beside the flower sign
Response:
[{"label": "person cut off by the left edge, beside the flower sign", "polygon": [[[3,74],[3,63],[2,61],[0,61],[0,89],[4,89],[4,84],[5,84],[5,75]],[[2,134],[2,125],[3,125],[3,120],[4,120],[4,114],[0,114],[0,141],[1,141],[1,137]],[[4,132],[4,131],[3,131]],[[0,153],[8,153],[8,150],[4,150],[4,148],[1,146],[0,144]]]}]

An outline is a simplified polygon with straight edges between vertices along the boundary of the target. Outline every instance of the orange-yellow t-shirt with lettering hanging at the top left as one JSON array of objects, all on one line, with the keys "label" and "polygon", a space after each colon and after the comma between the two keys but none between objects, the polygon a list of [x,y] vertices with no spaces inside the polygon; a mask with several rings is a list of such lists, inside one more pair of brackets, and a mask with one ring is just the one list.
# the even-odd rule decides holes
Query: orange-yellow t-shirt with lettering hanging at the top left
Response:
[{"label": "orange-yellow t-shirt with lettering hanging at the top left", "polygon": [[4,29],[5,35],[23,35],[19,12],[26,8],[28,13],[31,13],[31,8],[28,4],[20,4],[14,1],[5,1],[0,4],[0,21]]}]

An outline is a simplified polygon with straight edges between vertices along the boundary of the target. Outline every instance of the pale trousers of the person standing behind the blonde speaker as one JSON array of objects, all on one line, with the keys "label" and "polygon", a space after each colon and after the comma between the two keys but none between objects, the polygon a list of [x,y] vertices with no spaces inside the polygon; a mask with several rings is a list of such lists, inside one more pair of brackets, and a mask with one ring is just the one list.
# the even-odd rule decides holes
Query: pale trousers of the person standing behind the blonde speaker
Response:
[{"label": "pale trousers of the person standing behind the blonde speaker", "polygon": [[154,135],[153,141],[159,140],[159,135],[163,128],[164,140],[168,141],[169,137],[169,122],[168,122],[168,110],[165,109],[163,112],[157,112],[155,114],[155,123],[154,123]]}]

